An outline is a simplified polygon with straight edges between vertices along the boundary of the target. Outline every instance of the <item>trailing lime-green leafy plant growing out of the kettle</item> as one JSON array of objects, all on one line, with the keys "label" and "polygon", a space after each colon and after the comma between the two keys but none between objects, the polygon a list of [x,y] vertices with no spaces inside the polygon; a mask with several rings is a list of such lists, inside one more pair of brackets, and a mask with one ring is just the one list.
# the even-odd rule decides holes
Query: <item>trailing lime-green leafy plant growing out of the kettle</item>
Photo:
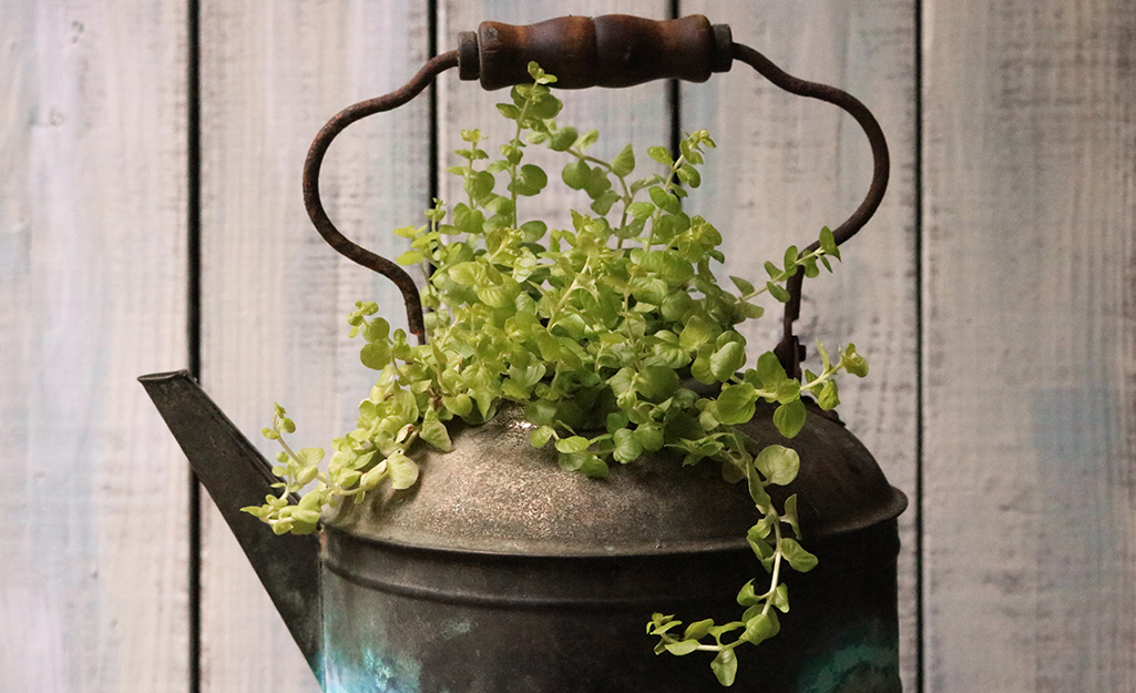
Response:
[{"label": "trailing lime-green leafy plant growing out of the kettle", "polygon": [[[802,393],[830,409],[834,376],[868,370],[852,344],[835,358],[818,344],[820,371],[801,379],[772,352],[746,368],[745,339],[734,326],[761,317],[754,300],[762,293],[786,301],[788,277],[832,270],[829,258],[840,252],[825,228],[817,251],[791,247],[779,265],[767,262],[763,284],[730,277],[736,291],[719,286],[711,264],[724,260],[721,235],[682,206],[701,183],[698,167],[715,147],[709,134],[687,135],[677,158],[662,147],[648,149],[657,173],[633,177],[632,147],[610,161],[587,153],[596,133],[559,126],[561,102],[548,86],[556,77],[535,64],[529,74],[533,84],[513,87],[512,102],[498,105],[516,124],[500,158],[483,149],[479,131],[462,131],[461,164],[449,170],[461,178],[465,199],[449,209],[435,201],[427,224],[394,232],[411,241],[399,261],[427,272],[427,343],[411,345],[376,316],[375,303],[357,303],[350,334],[364,337],[362,362],[379,373],[359,406],[358,427],[333,442],[324,470],[324,450],[293,450],[284,441],[295,425],[277,404],[264,434],[283,446],[274,468],[281,494],[244,510],[277,534],[314,532],[325,506],[361,501],[382,484],[412,486],[417,441],[448,451],[446,421],[483,423],[503,401],[525,407],[532,444],[554,445],[568,471],[602,478],[612,465],[660,450],[683,465],[720,464],[726,481],[749,486],[758,521],[746,538],[768,578],[742,586],[737,620],[683,627],[655,613],[646,632],[659,638],[657,653],[713,653],[711,669],[728,686],[735,650],[775,635],[777,612],[788,610],[783,570],[817,563],[797,542],[795,495],[775,508],[766,491],[793,481],[796,452],[774,444],[754,454],[755,444],[736,426],[753,417],[759,400],[776,402],[774,423],[793,437],[804,424]],[[571,211],[571,228],[524,216],[525,199],[549,184],[544,170],[523,162],[535,145],[562,152],[563,183],[591,199],[586,212]],[[685,387],[691,377],[718,385],[716,394]],[[290,503],[290,494],[311,484]]]}]

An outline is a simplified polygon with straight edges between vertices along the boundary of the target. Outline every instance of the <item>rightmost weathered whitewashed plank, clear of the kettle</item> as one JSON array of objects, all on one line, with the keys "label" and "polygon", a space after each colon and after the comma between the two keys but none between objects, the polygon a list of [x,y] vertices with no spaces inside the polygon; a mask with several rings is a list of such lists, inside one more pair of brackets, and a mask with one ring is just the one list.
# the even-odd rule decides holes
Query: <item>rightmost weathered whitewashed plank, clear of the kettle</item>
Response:
[{"label": "rightmost weathered whitewashed plank, clear of the kettle", "polygon": [[1136,690],[1136,6],[925,3],[926,663]]}]

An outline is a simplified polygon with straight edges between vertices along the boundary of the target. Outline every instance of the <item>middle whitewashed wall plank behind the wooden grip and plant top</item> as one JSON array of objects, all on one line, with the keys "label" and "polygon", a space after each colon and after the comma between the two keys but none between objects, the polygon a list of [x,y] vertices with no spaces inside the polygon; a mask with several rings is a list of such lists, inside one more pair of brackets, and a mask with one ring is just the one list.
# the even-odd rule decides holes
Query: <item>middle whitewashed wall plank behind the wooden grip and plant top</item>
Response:
[{"label": "middle whitewashed wall plank behind the wooden grip and plant top", "polygon": [[[626,14],[652,19],[667,18],[667,2],[659,0],[451,0],[440,2],[442,40],[440,44],[457,47],[458,32],[475,31],[482,22],[504,22],[507,24],[534,24],[544,19],[577,15]],[[640,152],[640,159],[648,147],[666,144],[670,136],[670,109],[667,87],[663,82],[641,84],[629,89],[591,89],[560,94],[565,109],[557,120],[561,126],[574,125],[584,133],[600,131],[600,141],[594,145],[599,157],[611,159],[625,144],[632,142]],[[458,139],[461,128],[481,128],[490,137],[488,149],[499,156],[498,147],[513,135],[512,123],[502,118],[495,103],[510,102],[509,90],[483,91],[476,82],[442,83],[440,91],[440,143],[442,168],[453,166],[458,159],[451,150],[462,143]],[[484,145],[483,145],[484,147]],[[562,155],[549,152],[543,147],[526,150],[526,160],[542,166],[549,174],[549,186],[538,199],[523,199],[518,214],[523,220],[543,219],[551,228],[570,228],[569,209],[587,210],[590,203],[582,192],[569,190],[560,179],[560,172],[568,161]],[[441,181],[443,200],[460,200],[461,179],[443,174]]]}]

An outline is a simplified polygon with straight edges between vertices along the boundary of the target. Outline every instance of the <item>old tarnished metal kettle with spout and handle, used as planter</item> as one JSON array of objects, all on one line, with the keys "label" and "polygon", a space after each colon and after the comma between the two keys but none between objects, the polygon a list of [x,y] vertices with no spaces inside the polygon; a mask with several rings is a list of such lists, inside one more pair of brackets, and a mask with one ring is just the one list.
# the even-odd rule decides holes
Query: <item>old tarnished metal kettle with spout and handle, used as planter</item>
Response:
[{"label": "old tarnished metal kettle with spout and handle, used as planter", "polygon": [[[304,201],[340,252],[394,279],[423,337],[417,289],[398,266],[348,241],[319,202],[331,140],[348,124],[395,108],[441,72],[486,89],[528,80],[536,60],[558,86],[705,81],[734,59],[778,86],[833,102],[872,145],[867,199],[835,229],[844,241],[879,204],[887,149],[875,118],[849,94],[786,75],[701,16],[654,22],[566,17],[531,26],[483,23],[396,92],[352,106],[319,133],[304,167]],[[778,354],[799,373],[792,333],[801,274],[790,285]],[[403,693],[719,691],[705,666],[657,658],[643,633],[652,610],[728,617],[754,576],[745,543],[753,506],[709,465],[641,459],[603,482],[563,471],[528,443],[527,423],[502,408],[482,426],[451,427],[453,451],[423,450],[423,477],[404,492],[349,504],[308,536],[275,536],[239,509],[277,481],[269,464],[185,371],[140,378],[220,508],[312,671],[327,692]],[[896,516],[904,495],[832,412],[809,404],[785,441],[759,407],[745,432],[796,449],[800,523],[819,567],[787,578],[793,611],[753,652],[735,686],[760,674],[771,693],[900,691]],[[502,473],[506,470],[506,473]],[[486,479],[494,483],[485,483]],[[506,479],[506,481],[501,481]],[[783,498],[775,499],[778,502]],[[755,681],[755,679],[754,679]]]}]

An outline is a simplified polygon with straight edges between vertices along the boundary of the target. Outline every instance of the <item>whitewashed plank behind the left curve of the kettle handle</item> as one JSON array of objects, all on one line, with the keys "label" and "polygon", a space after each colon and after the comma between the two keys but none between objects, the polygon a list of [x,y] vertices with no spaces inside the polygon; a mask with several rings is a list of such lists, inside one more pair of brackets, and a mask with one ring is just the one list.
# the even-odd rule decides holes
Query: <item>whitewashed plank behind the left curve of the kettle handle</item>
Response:
[{"label": "whitewashed plank behind the left curve of the kettle handle", "polygon": [[[374,374],[344,316],[356,300],[377,300],[404,325],[393,287],[311,227],[300,172],[319,127],[401,86],[425,61],[427,39],[424,1],[203,2],[202,378],[250,437],[270,423],[274,401],[295,417],[298,444],[326,446],[350,429]],[[390,229],[428,202],[427,112],[423,98],[352,126],[324,167],[331,217],[387,257],[401,252]],[[267,443],[258,441],[275,454]],[[318,690],[206,504],[202,691]]]}]

